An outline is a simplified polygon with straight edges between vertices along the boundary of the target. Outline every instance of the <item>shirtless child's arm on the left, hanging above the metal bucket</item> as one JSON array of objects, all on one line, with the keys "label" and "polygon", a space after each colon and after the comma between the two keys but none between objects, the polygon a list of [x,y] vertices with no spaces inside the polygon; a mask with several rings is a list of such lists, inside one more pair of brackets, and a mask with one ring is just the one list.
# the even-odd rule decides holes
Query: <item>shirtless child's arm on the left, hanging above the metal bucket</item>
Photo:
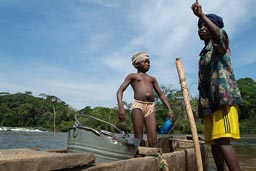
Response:
[{"label": "shirtless child's arm on the left, hanging above the metal bucket", "polygon": [[122,99],[123,99],[123,92],[128,87],[128,85],[131,83],[131,78],[132,78],[132,75],[129,74],[125,78],[124,82],[121,84],[121,86],[119,87],[119,89],[117,90],[117,93],[116,93],[117,105],[118,105],[118,118],[120,121],[125,121],[126,113],[124,110]]}]

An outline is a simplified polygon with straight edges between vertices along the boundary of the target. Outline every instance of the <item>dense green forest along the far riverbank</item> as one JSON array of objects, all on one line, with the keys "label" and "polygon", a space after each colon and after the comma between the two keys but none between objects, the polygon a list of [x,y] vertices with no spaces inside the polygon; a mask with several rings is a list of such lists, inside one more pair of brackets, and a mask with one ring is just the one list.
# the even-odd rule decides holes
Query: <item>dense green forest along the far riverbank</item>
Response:
[{"label": "dense green forest along the far riverbank", "polygon": [[[242,134],[255,134],[256,128],[256,82],[251,78],[241,78],[238,86],[243,98],[243,104],[239,105],[240,129]],[[162,91],[168,98],[173,108],[176,122],[174,133],[191,133],[187,119],[182,92],[162,86]],[[167,118],[167,110],[158,96],[155,96],[156,118],[159,125]],[[198,97],[191,97],[191,106],[195,116],[198,133],[203,132],[203,125],[197,116]],[[130,113],[131,103],[123,102],[127,113]],[[54,95],[40,94],[38,97],[32,92],[18,92],[10,94],[0,92],[0,126],[37,128],[47,131],[67,131],[74,124],[75,114],[88,114],[117,125],[124,131],[132,132],[130,115],[125,124],[117,122],[117,106],[114,108],[85,106],[81,110],[75,110],[64,101]],[[111,129],[106,124],[91,120],[86,126],[96,129]],[[114,130],[111,130],[114,131]]]}]

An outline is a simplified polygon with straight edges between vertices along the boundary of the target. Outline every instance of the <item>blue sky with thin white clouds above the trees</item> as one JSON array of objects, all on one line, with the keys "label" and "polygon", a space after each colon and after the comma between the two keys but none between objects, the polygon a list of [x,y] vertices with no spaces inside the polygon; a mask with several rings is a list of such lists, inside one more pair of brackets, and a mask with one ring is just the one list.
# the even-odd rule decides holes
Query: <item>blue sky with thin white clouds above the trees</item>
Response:
[{"label": "blue sky with thin white clouds above the trees", "polygon": [[[149,75],[180,89],[180,58],[196,96],[197,17],[188,0],[1,0],[0,92],[54,95],[74,109],[116,107],[116,92],[136,69],[131,56],[150,56]],[[199,0],[220,15],[229,35],[236,79],[256,80],[256,1]],[[123,100],[131,103],[129,86]]]}]

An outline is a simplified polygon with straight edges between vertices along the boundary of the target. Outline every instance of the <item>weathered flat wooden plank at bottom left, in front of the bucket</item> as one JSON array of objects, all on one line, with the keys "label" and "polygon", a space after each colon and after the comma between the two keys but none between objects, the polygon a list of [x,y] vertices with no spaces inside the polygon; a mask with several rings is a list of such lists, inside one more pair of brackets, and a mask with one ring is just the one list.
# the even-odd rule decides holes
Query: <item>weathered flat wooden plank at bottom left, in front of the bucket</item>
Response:
[{"label": "weathered flat wooden plank at bottom left, in front of the bucket", "polygon": [[0,150],[0,170],[46,171],[80,167],[94,163],[89,153],[54,153],[30,149]]}]

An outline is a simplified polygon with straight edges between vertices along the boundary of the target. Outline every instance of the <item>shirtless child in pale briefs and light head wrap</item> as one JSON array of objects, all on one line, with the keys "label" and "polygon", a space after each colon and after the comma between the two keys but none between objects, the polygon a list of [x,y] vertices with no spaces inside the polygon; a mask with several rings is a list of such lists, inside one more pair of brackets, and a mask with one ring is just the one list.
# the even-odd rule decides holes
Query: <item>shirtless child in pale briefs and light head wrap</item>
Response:
[{"label": "shirtless child in pale briefs and light head wrap", "polygon": [[125,89],[128,85],[131,85],[134,91],[134,101],[131,112],[134,137],[138,138],[140,141],[143,140],[143,123],[145,123],[148,144],[150,147],[156,147],[157,134],[153,90],[156,91],[161,101],[167,107],[172,122],[174,119],[173,112],[157,80],[146,74],[150,68],[148,54],[145,52],[135,53],[132,57],[132,64],[137,69],[137,73],[130,73],[117,91],[118,118],[120,121],[125,121],[126,113],[122,104],[122,98]]}]

